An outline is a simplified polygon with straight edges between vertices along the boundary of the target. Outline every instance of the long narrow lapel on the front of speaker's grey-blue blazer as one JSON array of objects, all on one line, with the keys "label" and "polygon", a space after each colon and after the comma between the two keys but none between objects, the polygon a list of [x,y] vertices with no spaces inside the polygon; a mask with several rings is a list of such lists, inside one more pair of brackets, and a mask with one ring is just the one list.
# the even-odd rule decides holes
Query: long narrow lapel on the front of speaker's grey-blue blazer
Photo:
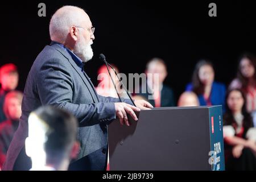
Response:
[{"label": "long narrow lapel on the front of speaker's grey-blue blazer", "polygon": [[81,72],[81,69],[77,66],[75,61],[73,61],[71,55],[69,55],[69,53],[67,51],[65,51],[65,49],[63,47],[61,47],[59,44],[53,44],[51,46],[54,47],[64,57],[66,57],[68,59],[69,63],[72,65],[72,67],[76,70],[76,72],[82,78],[82,81],[84,81],[84,84],[86,85],[86,87],[88,88],[88,90],[90,92],[90,96],[92,96],[93,102],[94,103],[98,102],[98,98],[96,96],[97,94],[94,92],[94,86],[93,86],[92,82],[90,81],[90,78],[86,74],[83,74]]}]

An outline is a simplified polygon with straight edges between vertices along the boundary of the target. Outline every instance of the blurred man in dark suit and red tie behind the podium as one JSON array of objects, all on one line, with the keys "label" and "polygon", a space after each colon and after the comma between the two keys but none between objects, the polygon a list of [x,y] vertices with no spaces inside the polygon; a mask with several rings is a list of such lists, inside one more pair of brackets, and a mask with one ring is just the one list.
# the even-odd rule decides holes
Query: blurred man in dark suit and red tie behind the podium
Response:
[{"label": "blurred man in dark suit and red tie behind the podium", "polygon": [[[154,107],[175,106],[174,92],[163,83],[168,75],[166,63],[160,58],[153,58],[147,63],[145,73],[147,81],[142,83],[138,95],[146,98]],[[142,88],[146,88],[146,93],[142,92]]]}]

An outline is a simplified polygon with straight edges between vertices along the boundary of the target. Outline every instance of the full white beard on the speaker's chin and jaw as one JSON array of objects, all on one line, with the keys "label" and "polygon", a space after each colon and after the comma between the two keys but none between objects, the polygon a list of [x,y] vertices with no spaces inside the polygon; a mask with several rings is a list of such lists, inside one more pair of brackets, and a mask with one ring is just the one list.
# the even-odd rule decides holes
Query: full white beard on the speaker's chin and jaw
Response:
[{"label": "full white beard on the speaker's chin and jaw", "polygon": [[80,36],[79,39],[74,47],[74,53],[82,60],[82,62],[87,62],[92,59],[93,57],[93,50],[91,45],[93,44],[92,41],[86,44],[86,41],[83,36]]}]

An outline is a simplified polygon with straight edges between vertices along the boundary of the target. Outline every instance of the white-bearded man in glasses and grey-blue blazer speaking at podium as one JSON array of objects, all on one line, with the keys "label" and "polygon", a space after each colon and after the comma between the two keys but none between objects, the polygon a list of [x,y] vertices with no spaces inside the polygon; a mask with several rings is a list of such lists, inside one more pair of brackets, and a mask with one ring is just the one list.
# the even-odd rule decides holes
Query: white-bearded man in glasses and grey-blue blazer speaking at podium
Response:
[{"label": "white-bearded man in glasses and grey-blue blazer speaking at podium", "polygon": [[7,151],[3,170],[27,170],[31,161],[24,151],[28,135],[28,115],[42,105],[54,105],[75,115],[79,121],[78,159],[69,169],[104,170],[108,156],[108,125],[118,118],[129,126],[127,114],[150,109],[143,100],[119,102],[97,94],[84,72],[84,63],[93,57],[94,27],[84,10],[64,6],[53,14],[49,24],[52,43],[44,47],[28,73],[22,101],[22,117]]}]

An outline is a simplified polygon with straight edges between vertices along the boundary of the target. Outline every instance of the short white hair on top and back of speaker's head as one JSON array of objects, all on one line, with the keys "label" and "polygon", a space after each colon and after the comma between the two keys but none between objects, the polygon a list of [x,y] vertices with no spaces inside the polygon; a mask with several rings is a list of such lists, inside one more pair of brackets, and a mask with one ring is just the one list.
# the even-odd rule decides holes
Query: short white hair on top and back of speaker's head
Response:
[{"label": "short white hair on top and back of speaker's head", "polygon": [[49,23],[49,35],[51,40],[64,41],[71,26],[79,26],[84,20],[85,12],[80,7],[63,6],[52,15]]}]

